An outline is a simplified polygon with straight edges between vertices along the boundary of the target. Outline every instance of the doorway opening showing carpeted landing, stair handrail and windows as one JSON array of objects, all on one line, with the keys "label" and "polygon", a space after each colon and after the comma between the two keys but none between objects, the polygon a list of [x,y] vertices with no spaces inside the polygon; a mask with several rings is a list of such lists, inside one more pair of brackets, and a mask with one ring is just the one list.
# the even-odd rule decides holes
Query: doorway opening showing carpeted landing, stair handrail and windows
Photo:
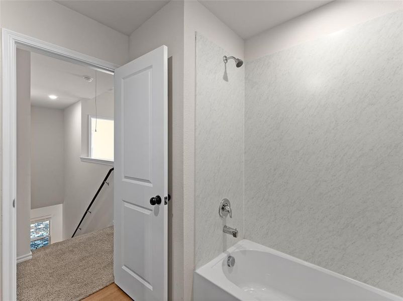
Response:
[{"label": "doorway opening showing carpeted landing, stair handrail and windows", "polygon": [[17,299],[82,298],[114,281],[113,75],[29,48],[16,66]]}]

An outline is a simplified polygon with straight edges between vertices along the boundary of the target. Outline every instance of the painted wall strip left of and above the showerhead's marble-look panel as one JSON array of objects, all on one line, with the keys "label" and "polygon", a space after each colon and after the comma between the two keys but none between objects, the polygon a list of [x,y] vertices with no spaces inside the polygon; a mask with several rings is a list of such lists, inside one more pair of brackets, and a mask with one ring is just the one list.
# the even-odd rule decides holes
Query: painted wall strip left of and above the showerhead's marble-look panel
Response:
[{"label": "painted wall strip left of and above the showerhead's marble-look panel", "polygon": [[194,271],[195,214],[195,103],[196,45],[194,33],[200,33],[231,55],[244,57],[244,41],[198,1],[184,1],[183,59],[183,241],[184,299],[191,300]]}]

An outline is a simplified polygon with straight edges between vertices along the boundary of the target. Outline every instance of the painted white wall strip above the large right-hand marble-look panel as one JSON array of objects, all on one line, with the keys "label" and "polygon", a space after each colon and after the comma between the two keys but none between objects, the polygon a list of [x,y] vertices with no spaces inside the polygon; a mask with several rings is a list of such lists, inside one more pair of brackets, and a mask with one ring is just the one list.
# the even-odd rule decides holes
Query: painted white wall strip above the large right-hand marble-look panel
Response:
[{"label": "painted white wall strip above the large right-hand marble-look panel", "polygon": [[245,58],[251,61],[401,8],[402,1],[333,1],[248,39]]}]

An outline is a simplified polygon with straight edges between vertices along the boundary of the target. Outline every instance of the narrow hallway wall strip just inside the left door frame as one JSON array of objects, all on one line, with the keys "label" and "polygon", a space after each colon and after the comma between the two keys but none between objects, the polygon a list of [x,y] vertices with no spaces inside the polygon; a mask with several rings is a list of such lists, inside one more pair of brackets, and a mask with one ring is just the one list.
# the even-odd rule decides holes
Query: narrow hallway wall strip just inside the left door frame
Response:
[{"label": "narrow hallway wall strip just inside the left door frame", "polygon": [[17,50],[17,260],[31,254],[31,53]]}]

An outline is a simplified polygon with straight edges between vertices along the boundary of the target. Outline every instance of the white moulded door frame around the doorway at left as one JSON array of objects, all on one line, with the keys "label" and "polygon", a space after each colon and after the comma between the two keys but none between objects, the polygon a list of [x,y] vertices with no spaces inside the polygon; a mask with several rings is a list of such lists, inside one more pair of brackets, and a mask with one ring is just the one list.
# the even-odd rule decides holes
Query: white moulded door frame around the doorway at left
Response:
[{"label": "white moulded door frame around the doorway at left", "polygon": [[[89,66],[114,74],[119,65],[100,60],[64,47],[2,29],[3,103],[2,103],[2,299],[17,298],[17,233],[16,233],[16,149],[17,149],[17,48],[45,53],[58,59]],[[15,204],[15,203],[14,203]]]}]

